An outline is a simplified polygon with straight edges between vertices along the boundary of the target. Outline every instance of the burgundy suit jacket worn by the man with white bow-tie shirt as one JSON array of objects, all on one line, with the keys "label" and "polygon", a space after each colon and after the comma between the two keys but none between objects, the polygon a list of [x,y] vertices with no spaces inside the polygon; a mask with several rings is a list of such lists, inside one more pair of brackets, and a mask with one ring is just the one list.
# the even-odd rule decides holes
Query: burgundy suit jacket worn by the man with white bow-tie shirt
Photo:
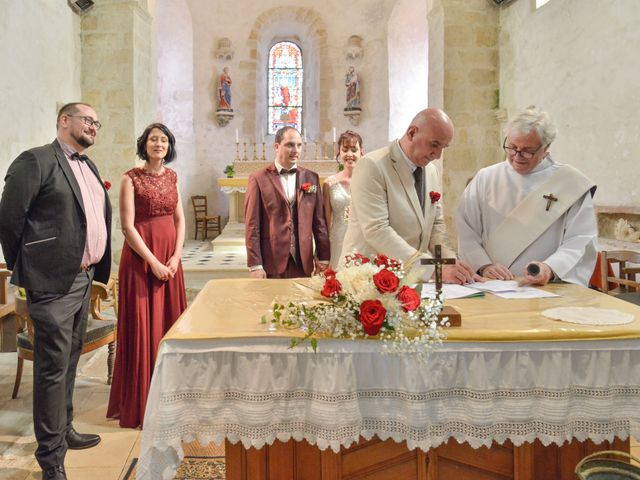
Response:
[{"label": "burgundy suit jacket worn by the man with white bow-tie shirt", "polygon": [[[302,184],[316,186],[315,193],[304,193]],[[319,260],[329,261],[329,234],[324,220],[322,192],[318,174],[298,167],[296,179],[298,212],[298,251],[302,269],[313,273],[313,240]],[[291,245],[289,202],[274,164],[249,176],[244,202],[247,265],[262,265],[267,275],[281,275],[287,268]]]}]

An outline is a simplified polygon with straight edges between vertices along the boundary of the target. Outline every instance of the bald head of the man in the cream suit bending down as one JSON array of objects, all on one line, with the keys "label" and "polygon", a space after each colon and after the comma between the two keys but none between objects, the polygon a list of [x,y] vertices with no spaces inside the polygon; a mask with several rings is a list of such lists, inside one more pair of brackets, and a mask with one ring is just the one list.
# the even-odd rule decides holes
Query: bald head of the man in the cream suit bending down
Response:
[{"label": "bald head of the man in the cream suit bending down", "polygon": [[427,108],[411,121],[400,148],[419,167],[437,160],[453,138],[453,122],[439,108]]}]

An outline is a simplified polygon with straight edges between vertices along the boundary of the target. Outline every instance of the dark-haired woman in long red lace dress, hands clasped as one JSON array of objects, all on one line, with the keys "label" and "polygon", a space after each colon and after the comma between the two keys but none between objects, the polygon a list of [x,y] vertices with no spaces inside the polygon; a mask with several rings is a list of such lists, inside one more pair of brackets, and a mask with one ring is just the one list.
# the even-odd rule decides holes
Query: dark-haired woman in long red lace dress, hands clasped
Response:
[{"label": "dark-haired woman in long red lace dress, hands clasped", "polygon": [[141,427],[160,339],[187,306],[180,256],[184,212],[176,172],[175,138],[161,123],[138,138],[145,160],[120,183],[118,342],[107,417]]}]

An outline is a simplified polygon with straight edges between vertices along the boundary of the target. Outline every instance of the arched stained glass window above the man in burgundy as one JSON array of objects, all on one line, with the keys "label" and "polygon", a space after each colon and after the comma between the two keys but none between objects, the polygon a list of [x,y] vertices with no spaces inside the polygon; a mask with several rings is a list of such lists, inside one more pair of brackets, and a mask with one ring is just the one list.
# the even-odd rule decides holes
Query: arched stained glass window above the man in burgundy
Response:
[{"label": "arched stained glass window above the man in burgundy", "polygon": [[295,43],[279,42],[269,50],[267,131],[284,126],[302,131],[302,51]]}]

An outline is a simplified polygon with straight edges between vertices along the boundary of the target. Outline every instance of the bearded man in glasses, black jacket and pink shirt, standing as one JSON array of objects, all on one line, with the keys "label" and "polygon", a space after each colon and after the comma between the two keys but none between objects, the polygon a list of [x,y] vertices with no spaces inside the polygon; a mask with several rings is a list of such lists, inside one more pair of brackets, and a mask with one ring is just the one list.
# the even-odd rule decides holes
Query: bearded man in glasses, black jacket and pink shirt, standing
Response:
[{"label": "bearded man in glasses, black jacket and pink shirt, standing", "polygon": [[62,107],[56,140],[13,161],[0,200],[0,244],[11,282],[26,290],[34,327],[33,423],[43,479],[66,479],[67,449],[100,441],[71,423],[91,282],[106,283],[111,270],[111,205],[83,155],[100,126],[90,105]]}]

